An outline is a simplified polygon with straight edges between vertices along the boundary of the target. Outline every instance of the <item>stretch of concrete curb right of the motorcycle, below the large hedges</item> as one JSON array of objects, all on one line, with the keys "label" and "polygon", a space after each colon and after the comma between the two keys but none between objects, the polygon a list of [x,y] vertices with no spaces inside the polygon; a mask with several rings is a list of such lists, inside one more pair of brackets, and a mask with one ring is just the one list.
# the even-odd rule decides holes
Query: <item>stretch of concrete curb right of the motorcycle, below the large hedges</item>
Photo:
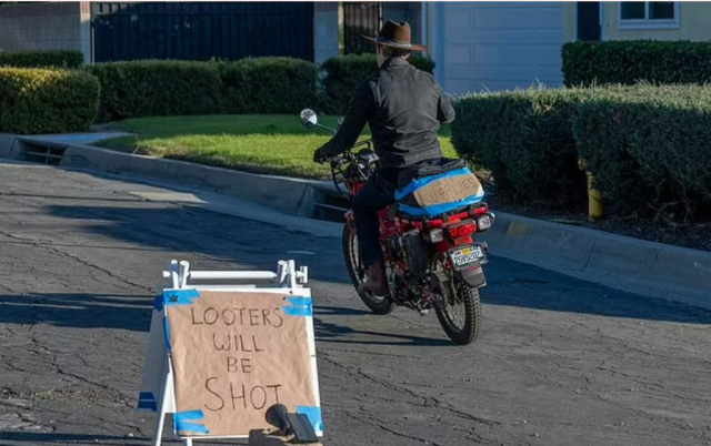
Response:
[{"label": "stretch of concrete curb right of the motorcycle, below the large hedges", "polygon": [[711,253],[497,213],[492,255],[711,310]]}]

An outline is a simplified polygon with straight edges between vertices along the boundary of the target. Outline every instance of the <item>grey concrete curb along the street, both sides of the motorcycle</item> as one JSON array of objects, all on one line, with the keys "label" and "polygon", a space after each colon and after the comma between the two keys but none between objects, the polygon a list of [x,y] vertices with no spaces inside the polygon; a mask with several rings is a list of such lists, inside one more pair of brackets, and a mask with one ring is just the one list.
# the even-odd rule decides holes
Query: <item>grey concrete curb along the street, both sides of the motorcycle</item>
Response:
[{"label": "grey concrete curb along the street, both sides of the motorcycle", "polygon": [[[2,145],[8,141],[12,145],[9,136],[0,134],[0,156],[10,154]],[[320,216],[319,203],[332,202],[336,194],[329,182],[246,173],[74,143],[66,143],[59,165],[219,192],[300,217]],[[493,227],[480,236],[489,243],[492,255],[711,310],[711,253],[513,214],[497,213],[497,217]],[[329,234],[338,235],[338,231]]]}]

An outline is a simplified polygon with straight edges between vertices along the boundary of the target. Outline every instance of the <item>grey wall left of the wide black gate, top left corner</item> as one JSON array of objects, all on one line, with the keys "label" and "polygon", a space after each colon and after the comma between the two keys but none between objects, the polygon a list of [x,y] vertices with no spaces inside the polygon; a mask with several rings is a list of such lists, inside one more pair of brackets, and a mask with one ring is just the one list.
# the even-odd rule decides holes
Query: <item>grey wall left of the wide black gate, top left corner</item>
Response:
[{"label": "grey wall left of the wide black gate, top left corner", "polygon": [[88,1],[0,6],[0,51],[78,50],[91,62]]}]

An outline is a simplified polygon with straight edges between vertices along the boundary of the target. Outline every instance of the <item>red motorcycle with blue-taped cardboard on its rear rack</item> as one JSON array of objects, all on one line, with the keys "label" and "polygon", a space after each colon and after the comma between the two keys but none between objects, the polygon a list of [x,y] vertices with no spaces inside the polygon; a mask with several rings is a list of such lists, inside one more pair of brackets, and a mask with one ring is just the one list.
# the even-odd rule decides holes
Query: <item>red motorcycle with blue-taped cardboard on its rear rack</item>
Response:
[{"label": "red motorcycle with blue-taped cardboard on its rear rack", "polygon": [[[301,112],[307,128],[318,123],[312,110]],[[339,192],[354,196],[377,169],[378,158],[372,141],[361,141],[350,150],[329,160],[333,183]],[[428,171],[429,169],[429,171]],[[434,308],[447,335],[457,344],[474,342],[481,326],[479,288],[487,284],[482,265],[488,263],[487,244],[473,240],[493,224],[481,196],[423,211],[408,203],[408,190],[449,175],[465,174],[469,169],[459,161],[442,163],[414,172],[412,185],[398,191],[398,203],[380,211],[380,242],[385,263],[390,294],[379,297],[358,292],[363,303],[375,314],[388,314],[395,305],[417,310],[424,315]],[[471,175],[471,172],[469,172]],[[474,180],[475,181],[475,180]],[[440,212],[441,211],[441,212]],[[352,211],[346,213],[343,255],[350,278],[358,290],[365,280],[365,266],[360,260]]]}]

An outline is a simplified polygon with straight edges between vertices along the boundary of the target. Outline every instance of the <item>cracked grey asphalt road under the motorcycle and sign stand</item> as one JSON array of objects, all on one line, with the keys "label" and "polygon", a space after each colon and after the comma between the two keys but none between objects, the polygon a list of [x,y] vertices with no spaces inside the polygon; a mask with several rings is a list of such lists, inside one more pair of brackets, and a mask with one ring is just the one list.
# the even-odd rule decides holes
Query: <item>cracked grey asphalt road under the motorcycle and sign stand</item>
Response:
[{"label": "cracked grey asphalt road under the motorcycle and sign stand", "polygon": [[303,250],[327,446],[711,445],[710,312],[494,255],[481,336],[454,346],[433,315],[369,314],[337,239],[136,191],[161,192],[0,163],[1,445],[148,445],[134,406],[168,261]]}]

